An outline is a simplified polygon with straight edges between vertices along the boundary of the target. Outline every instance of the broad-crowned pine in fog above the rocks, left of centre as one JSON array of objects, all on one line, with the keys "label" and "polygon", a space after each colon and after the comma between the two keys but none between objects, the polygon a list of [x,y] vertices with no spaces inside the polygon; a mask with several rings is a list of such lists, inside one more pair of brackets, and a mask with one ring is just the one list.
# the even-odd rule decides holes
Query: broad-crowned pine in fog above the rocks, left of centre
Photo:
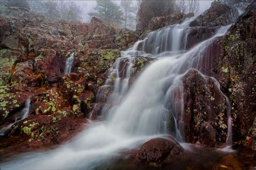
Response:
[{"label": "broad-crowned pine in fog above the rocks, left of centre", "polygon": [[96,12],[88,13],[91,17],[102,19],[105,23],[116,24],[120,26],[123,23],[123,12],[120,7],[111,0],[97,0],[97,5],[93,8]]}]

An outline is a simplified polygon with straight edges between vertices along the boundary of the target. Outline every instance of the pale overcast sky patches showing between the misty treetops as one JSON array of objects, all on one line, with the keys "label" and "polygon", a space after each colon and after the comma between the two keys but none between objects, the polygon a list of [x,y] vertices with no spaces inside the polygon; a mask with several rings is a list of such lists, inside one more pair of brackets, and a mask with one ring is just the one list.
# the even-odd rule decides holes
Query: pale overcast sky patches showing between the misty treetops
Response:
[{"label": "pale overcast sky patches showing between the misty treetops", "polygon": [[[93,11],[93,6],[96,6],[96,1],[74,1],[77,4],[79,4],[79,6],[81,6],[84,11],[83,11],[83,22],[90,22],[89,21],[89,16],[87,15],[87,13],[92,12]],[[117,4],[120,4],[120,1],[114,1]],[[132,1],[134,2],[134,4],[136,3],[136,1]],[[210,8],[211,3],[213,2],[213,0],[205,0],[205,1],[201,1],[199,0],[199,5],[200,5],[200,11],[205,11],[206,9]]]}]

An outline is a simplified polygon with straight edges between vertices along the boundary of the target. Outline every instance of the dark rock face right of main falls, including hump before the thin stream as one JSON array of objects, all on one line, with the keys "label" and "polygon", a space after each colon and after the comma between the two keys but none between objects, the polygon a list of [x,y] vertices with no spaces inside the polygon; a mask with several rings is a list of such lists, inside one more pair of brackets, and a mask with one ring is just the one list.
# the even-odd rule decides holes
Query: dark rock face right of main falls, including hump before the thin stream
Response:
[{"label": "dark rock face right of main falls, including hump before the thin stream", "polygon": [[[231,104],[233,146],[255,149],[255,2],[225,36],[204,51],[200,72],[218,80]],[[211,64],[210,64],[211,63]],[[208,68],[208,69],[205,69]],[[192,70],[184,77],[186,141],[218,146],[227,136],[227,104],[213,79]],[[193,115],[193,116],[192,116]],[[184,124],[183,124],[184,123]]]}]

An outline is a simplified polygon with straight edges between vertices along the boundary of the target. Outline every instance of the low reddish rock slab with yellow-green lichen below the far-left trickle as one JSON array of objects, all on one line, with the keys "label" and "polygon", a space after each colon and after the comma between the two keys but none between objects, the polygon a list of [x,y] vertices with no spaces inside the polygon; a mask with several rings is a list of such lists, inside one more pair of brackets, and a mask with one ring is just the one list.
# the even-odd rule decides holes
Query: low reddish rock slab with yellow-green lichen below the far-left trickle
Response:
[{"label": "low reddish rock slab with yellow-green lichen below the far-left trickle", "polygon": [[1,155],[10,157],[18,152],[54,147],[65,143],[85,128],[86,119],[70,118],[65,112],[48,116],[33,116],[18,122],[0,144]]}]

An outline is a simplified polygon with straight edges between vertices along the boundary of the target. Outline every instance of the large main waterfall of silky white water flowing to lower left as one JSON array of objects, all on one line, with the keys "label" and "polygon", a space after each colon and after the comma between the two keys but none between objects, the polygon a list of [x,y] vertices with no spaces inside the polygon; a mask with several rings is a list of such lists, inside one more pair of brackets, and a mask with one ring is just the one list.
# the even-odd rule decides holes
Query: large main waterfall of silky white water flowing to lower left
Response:
[{"label": "large main waterfall of silky white water flowing to lower left", "polygon": [[[160,57],[161,54],[167,56],[168,50],[181,51],[184,49],[186,40],[182,39],[187,29],[187,22],[171,27],[173,31],[178,30],[177,35],[183,35],[178,36],[180,37],[179,40],[174,36],[171,39],[165,39],[166,36],[170,36],[171,30],[169,30],[170,32],[165,30],[166,33],[162,33],[165,34],[164,36],[160,36],[161,31],[157,30],[145,40],[138,41],[133,48],[123,52],[122,58],[117,60],[109,79],[99,89],[99,94],[103,93],[105,88],[114,83],[114,93],[107,100],[115,100],[116,102],[113,102],[109,107],[105,106],[105,110],[103,109],[103,113],[107,113],[106,121],[92,122],[90,129],[85,130],[75,140],[56,150],[29,154],[23,159],[19,158],[19,160],[2,164],[2,168],[93,169],[103,161],[117,155],[120,150],[131,149],[146,140],[169,133],[166,124],[170,115],[173,115],[176,129],[175,132],[171,133],[175,133],[176,139],[181,141],[176,118],[179,118],[178,123],[182,124],[184,101],[180,94],[183,93],[183,76],[190,69],[199,69],[200,63],[203,62],[204,49],[216,37],[223,36],[229,26],[221,27],[214,37],[201,42],[186,53],[184,51],[168,53],[168,57],[153,62],[140,74],[129,92],[126,93],[130,69],[133,65],[132,56],[150,52],[151,56]],[[158,36],[154,37],[157,45],[148,47],[147,43],[151,41],[151,36],[155,33],[159,33]],[[172,35],[176,34],[172,33]],[[164,45],[166,41],[181,42],[181,44],[169,43],[170,46],[162,48],[161,43]],[[138,46],[141,43],[144,44],[143,49],[138,51]],[[120,80],[118,68],[120,67],[120,60],[124,58],[129,60],[130,64],[126,68],[125,79]],[[114,82],[113,75],[115,75]],[[101,100],[100,95],[97,96],[97,101],[100,102]]]}]

